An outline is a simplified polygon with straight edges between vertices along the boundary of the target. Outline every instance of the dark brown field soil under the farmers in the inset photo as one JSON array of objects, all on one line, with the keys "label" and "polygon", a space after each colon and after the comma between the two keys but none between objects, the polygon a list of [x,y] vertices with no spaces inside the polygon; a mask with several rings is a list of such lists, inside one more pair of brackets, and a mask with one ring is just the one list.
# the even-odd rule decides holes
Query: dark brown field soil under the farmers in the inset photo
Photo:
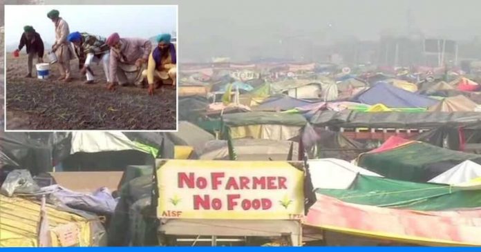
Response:
[{"label": "dark brown field soil under the farmers in the inset photo", "polygon": [[57,64],[50,66],[48,79],[37,79],[35,59],[34,78],[25,78],[25,52],[19,58],[11,53],[6,57],[8,130],[176,130],[174,86],[161,86],[153,96],[147,88],[134,86],[111,92],[102,65],[92,66],[96,83],[83,84],[86,78],[77,60],[71,61],[70,83],[57,81]]}]

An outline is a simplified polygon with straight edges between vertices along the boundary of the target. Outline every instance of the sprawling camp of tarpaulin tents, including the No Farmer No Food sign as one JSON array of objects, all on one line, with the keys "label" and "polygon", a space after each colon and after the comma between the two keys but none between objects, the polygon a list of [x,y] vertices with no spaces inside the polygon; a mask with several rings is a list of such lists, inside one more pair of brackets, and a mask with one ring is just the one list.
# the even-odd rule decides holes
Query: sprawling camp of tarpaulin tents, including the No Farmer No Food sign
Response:
[{"label": "sprawling camp of tarpaulin tents, including the No Farmer No Food sign", "polygon": [[477,82],[243,66],[184,68],[178,132],[1,135],[2,202],[102,237],[28,246],[481,245]]}]

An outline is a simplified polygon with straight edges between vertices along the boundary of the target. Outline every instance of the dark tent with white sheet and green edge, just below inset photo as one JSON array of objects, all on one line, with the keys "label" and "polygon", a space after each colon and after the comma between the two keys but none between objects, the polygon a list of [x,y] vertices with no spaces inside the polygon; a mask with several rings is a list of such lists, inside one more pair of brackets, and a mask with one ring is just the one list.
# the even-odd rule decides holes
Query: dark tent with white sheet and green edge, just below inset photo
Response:
[{"label": "dark tent with white sheet and green edge, just below inset photo", "polygon": [[173,157],[173,145],[159,133],[74,131],[54,137],[55,171],[124,171],[129,165]]}]

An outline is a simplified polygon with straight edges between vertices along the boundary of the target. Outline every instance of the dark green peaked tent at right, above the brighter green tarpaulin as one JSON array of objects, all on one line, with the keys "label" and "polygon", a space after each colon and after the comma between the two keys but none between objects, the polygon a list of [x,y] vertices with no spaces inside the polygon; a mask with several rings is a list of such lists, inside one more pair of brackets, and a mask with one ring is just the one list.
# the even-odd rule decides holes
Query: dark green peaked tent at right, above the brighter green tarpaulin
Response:
[{"label": "dark green peaked tent at right, above the brighter green tarpaulin", "polygon": [[357,165],[394,180],[427,182],[465,160],[481,164],[481,155],[413,141],[382,152],[363,153]]}]

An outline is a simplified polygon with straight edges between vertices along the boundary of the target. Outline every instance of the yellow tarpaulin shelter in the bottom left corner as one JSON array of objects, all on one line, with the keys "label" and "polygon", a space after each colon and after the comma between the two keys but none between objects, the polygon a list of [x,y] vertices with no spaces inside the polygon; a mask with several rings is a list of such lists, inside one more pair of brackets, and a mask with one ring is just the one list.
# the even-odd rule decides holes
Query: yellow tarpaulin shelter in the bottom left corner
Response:
[{"label": "yellow tarpaulin shelter in the bottom left corner", "polygon": [[[91,220],[50,205],[47,216],[52,246],[92,246]],[[38,246],[39,218],[40,204],[0,195],[0,247]]]}]

